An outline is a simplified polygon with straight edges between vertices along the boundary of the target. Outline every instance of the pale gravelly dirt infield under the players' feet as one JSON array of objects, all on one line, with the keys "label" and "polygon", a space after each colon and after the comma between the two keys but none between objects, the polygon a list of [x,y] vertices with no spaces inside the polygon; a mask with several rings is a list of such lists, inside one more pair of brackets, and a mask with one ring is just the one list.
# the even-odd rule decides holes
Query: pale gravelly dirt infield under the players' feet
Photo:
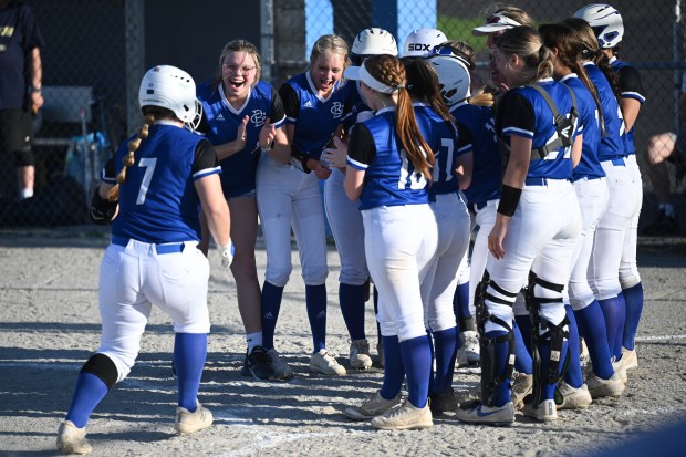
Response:
[{"label": "pale gravelly dirt infield under the players' feet", "polygon": [[[79,368],[98,343],[97,274],[107,242],[106,233],[93,228],[30,236],[0,231],[2,455],[55,454],[55,432],[69,408]],[[257,255],[261,274],[263,248]],[[640,365],[630,372],[624,396],[585,411],[560,412],[560,420],[552,424],[518,414],[508,428],[464,425],[450,414],[423,432],[376,432],[366,423],[346,420],[341,411],[374,392],[382,371],[349,372],[336,378],[309,373],[311,336],[295,252],[293,260],[276,342],[294,367],[294,380],[267,383],[240,376],[245,341],[236,288],[219,268],[217,252],[211,252],[212,333],[200,401],[215,414],[215,425],[190,436],[174,434],[174,337],[166,315],[155,310],[138,364],[89,423],[93,455],[586,455],[607,453],[686,418],[685,239],[640,242],[645,290],[637,335]],[[337,307],[340,264],[333,247],[329,261],[328,346],[347,364],[347,336]],[[371,303],[366,328],[374,346]],[[462,394],[477,383],[478,368],[459,370],[455,376],[455,387]],[[682,442],[684,435],[683,426]]]}]

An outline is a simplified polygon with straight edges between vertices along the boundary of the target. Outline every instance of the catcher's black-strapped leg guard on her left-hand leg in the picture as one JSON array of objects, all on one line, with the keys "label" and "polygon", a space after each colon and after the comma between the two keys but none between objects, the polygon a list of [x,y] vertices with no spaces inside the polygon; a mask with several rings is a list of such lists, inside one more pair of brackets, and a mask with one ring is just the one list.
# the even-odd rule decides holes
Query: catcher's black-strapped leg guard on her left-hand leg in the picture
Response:
[{"label": "catcher's black-strapped leg guard on her left-hand leg in the picture", "polygon": [[[490,279],[488,271],[484,272],[481,282],[477,285],[475,293],[475,305],[477,310],[477,328],[479,331],[479,345],[481,359],[481,403],[486,406],[496,406],[498,398],[498,386],[512,377],[514,370],[514,335],[512,328],[501,319],[492,315],[486,305],[486,298],[499,303],[509,304],[506,300],[499,299],[487,293],[488,287],[493,288],[500,294],[511,297],[512,294],[501,289]],[[505,334],[489,337],[486,335],[485,324],[491,321],[505,330]],[[507,354],[507,355],[506,355]],[[502,359],[505,356],[505,364]]]}]

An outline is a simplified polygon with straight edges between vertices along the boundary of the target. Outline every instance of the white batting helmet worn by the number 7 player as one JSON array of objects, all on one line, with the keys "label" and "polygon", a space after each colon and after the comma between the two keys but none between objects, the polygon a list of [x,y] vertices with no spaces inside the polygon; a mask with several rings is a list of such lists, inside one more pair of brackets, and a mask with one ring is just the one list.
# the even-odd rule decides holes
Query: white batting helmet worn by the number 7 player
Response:
[{"label": "white batting helmet worn by the number 7 player", "polygon": [[138,103],[172,111],[195,131],[202,117],[202,105],[196,98],[196,84],[185,71],[172,65],[158,65],[145,73],[138,91]]}]

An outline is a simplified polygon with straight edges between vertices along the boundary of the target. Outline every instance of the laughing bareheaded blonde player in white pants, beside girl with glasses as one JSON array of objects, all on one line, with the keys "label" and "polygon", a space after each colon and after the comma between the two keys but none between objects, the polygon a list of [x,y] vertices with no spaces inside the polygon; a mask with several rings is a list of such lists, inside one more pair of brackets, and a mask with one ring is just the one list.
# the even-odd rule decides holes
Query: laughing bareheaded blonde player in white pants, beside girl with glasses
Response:
[{"label": "laughing bareheaded blonde player in white pants, beside girl with glasses", "polygon": [[300,253],[305,301],[314,352],[310,370],[344,375],[345,368],[326,351],[326,239],[318,179],[331,169],[320,162],[322,149],[343,122],[354,86],[342,83],[347,44],[336,35],[323,35],[310,55],[310,67],[287,81],[279,93],[287,115],[285,134],[291,145],[289,165],[264,155],[257,176],[257,199],[264,243],[267,271],[262,287],[263,346],[281,377],[293,371],[273,350],[273,335],[283,288],[292,270],[291,228]]}]

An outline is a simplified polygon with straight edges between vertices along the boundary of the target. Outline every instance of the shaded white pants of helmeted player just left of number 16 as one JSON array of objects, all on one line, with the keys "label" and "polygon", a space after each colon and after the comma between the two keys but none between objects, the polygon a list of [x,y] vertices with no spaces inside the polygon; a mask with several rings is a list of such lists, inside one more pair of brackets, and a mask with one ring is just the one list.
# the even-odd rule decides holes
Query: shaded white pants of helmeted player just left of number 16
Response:
[{"label": "shaded white pants of helmeted player just left of number 16", "polygon": [[360,200],[345,195],[345,175],[334,169],[324,181],[324,207],[341,258],[339,281],[350,285],[362,285],[370,278],[364,257],[364,224],[360,212]]}]

